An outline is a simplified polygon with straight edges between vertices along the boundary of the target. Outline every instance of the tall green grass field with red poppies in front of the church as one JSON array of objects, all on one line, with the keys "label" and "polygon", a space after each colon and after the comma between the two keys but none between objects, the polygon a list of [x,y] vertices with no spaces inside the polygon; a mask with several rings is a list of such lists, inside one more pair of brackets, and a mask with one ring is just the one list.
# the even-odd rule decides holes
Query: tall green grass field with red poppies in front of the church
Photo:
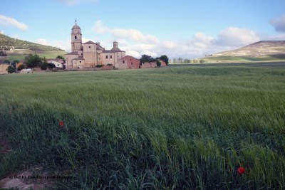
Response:
[{"label": "tall green grass field with red poppies in front of the church", "polygon": [[11,152],[0,176],[41,164],[73,176],[61,189],[284,189],[284,77],[262,67],[1,75]]}]

